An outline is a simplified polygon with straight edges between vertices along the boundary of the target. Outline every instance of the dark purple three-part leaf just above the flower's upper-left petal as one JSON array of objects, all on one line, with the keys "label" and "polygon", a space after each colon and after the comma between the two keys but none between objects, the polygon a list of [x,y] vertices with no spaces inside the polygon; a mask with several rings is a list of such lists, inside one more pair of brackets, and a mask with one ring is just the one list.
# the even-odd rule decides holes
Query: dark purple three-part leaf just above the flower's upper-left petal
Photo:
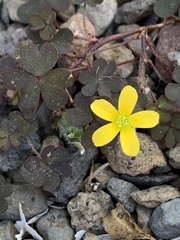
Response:
[{"label": "dark purple three-part leaf just above the flower's upper-left petal", "polygon": [[112,76],[115,70],[115,62],[108,64],[101,58],[94,61],[92,71],[80,73],[79,81],[85,85],[82,87],[82,94],[89,97],[98,92],[99,96],[111,97],[112,92],[119,92],[123,88],[123,81],[117,76]]}]

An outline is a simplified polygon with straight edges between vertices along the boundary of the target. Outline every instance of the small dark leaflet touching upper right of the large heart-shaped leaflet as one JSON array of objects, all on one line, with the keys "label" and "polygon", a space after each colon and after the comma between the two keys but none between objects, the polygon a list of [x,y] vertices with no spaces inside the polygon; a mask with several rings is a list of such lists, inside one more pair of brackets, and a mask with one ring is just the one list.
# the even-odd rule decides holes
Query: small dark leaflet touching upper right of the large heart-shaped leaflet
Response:
[{"label": "small dark leaflet touching upper right of the large heart-shaped leaflet", "polygon": [[59,54],[65,54],[70,51],[70,43],[73,40],[73,33],[68,28],[61,28],[51,40],[51,43],[57,48]]}]

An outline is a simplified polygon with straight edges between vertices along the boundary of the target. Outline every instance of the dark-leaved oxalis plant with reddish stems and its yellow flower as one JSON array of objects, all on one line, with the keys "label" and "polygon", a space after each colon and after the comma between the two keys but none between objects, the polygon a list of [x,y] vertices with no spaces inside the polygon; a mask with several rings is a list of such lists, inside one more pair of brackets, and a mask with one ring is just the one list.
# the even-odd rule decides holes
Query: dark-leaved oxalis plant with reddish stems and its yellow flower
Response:
[{"label": "dark-leaved oxalis plant with reddish stems and its yellow flower", "polygon": [[[171,70],[154,49],[158,32],[166,26],[176,25],[179,18],[173,15],[179,1],[159,0],[154,6],[162,23],[143,26],[125,33],[96,38],[61,28],[57,13],[68,9],[70,3],[95,7],[103,0],[30,0],[18,10],[21,21],[27,25],[27,40],[20,42],[14,58],[0,59],[1,106],[9,107],[9,121],[0,126],[0,149],[8,151],[28,139],[33,154],[24,166],[30,172],[30,182],[47,191],[53,191],[61,183],[61,177],[72,174],[67,145],[75,146],[80,154],[110,143],[119,133],[123,152],[134,157],[140,145],[136,135],[139,128],[146,129],[162,149],[180,142],[179,72]],[[166,4],[164,3],[166,2]],[[173,2],[173,4],[172,4]],[[84,18],[84,27],[86,20]],[[133,35],[136,34],[136,37]],[[131,37],[132,36],[132,37]],[[131,37],[124,40],[125,37]],[[86,41],[84,55],[73,57],[73,63],[60,67],[63,57],[72,62],[71,45],[74,39]],[[88,61],[106,43],[111,49],[139,39],[141,54],[128,62],[107,62],[105,59]],[[120,42],[121,41],[121,42]],[[149,58],[148,51],[172,76],[165,82],[161,95],[148,86],[145,67],[149,65],[157,77],[163,77]],[[103,51],[109,50],[109,48]],[[85,64],[85,60],[86,64]],[[118,66],[137,62],[136,78],[127,81],[120,78]],[[83,63],[83,65],[82,65]],[[36,115],[41,105],[51,111],[54,129],[64,146],[45,148],[38,153],[31,144],[30,132],[38,131]],[[106,123],[104,121],[105,120]],[[107,123],[108,122],[108,123]],[[144,131],[144,130],[143,130]],[[3,211],[6,208],[3,208]]]}]

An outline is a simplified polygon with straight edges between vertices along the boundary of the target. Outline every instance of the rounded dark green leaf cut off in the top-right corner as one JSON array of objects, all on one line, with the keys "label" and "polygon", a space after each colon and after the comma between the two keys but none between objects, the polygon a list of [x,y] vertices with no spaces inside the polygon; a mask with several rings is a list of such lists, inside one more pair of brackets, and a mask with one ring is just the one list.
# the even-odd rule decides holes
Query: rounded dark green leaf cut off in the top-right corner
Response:
[{"label": "rounded dark green leaf cut off in the top-right corner", "polygon": [[180,0],[158,0],[154,5],[154,12],[161,18],[173,15],[180,5]]}]

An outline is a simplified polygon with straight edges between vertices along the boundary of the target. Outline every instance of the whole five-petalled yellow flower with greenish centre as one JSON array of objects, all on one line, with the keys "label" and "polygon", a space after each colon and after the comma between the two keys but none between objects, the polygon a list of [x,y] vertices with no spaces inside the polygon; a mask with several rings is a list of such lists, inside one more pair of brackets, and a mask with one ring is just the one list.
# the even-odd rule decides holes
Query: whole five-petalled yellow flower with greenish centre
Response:
[{"label": "whole five-petalled yellow flower with greenish centre", "polygon": [[123,152],[128,156],[139,153],[139,140],[135,128],[151,128],[158,124],[159,114],[144,110],[132,113],[138,99],[135,88],[126,86],[119,95],[118,110],[104,99],[95,100],[91,110],[100,118],[110,123],[98,128],[92,136],[95,146],[101,147],[111,142],[120,132]]}]

